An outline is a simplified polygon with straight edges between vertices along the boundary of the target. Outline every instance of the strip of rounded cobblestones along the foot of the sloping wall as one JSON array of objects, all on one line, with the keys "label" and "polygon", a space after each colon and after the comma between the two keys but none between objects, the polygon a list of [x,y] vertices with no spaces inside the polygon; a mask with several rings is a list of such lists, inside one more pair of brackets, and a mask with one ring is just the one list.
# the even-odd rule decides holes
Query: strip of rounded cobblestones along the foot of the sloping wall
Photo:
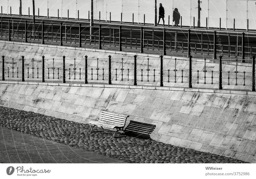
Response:
[{"label": "strip of rounded cobblestones along the foot of the sloping wall", "polygon": [[4,128],[129,163],[245,163],[241,160],[168,145],[152,139],[129,136],[113,138],[113,131],[110,130],[90,135],[91,126],[88,124],[12,108],[0,107],[0,119]]}]

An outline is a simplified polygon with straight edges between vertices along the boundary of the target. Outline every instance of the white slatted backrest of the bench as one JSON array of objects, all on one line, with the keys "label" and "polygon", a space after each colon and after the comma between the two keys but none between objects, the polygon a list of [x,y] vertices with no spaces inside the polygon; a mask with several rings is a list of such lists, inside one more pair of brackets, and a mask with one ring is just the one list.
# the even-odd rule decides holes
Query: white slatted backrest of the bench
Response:
[{"label": "white slatted backrest of the bench", "polygon": [[109,111],[101,111],[99,122],[124,127],[127,117],[129,116]]}]

